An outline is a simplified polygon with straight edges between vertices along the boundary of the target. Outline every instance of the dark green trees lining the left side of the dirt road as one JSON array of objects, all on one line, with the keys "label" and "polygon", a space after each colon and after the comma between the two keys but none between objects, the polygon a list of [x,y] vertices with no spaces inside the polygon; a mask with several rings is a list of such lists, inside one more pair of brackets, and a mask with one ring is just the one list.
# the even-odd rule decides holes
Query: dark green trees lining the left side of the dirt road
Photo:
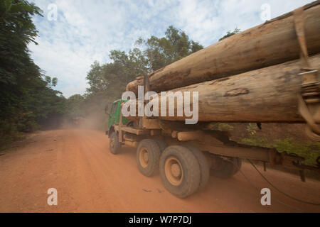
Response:
[{"label": "dark green trees lining the left side of the dirt road", "polygon": [[58,124],[65,111],[65,98],[52,89],[58,79],[44,77],[30,57],[27,45],[37,35],[33,15],[41,10],[28,1],[0,2],[0,146]]}]

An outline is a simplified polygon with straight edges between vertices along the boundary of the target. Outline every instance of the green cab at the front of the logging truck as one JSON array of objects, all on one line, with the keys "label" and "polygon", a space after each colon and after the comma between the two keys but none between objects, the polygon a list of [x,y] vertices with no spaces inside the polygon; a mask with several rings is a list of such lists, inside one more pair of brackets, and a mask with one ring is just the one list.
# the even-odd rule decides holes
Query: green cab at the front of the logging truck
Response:
[{"label": "green cab at the front of the logging truck", "polygon": [[[121,114],[121,104],[127,100],[118,99],[113,102],[111,106],[107,105],[105,107],[105,114],[109,116],[108,118],[108,128],[106,134],[110,136],[110,131],[112,131],[112,126],[118,125],[120,121]],[[122,117],[122,124],[126,125],[129,123],[129,119]]]}]

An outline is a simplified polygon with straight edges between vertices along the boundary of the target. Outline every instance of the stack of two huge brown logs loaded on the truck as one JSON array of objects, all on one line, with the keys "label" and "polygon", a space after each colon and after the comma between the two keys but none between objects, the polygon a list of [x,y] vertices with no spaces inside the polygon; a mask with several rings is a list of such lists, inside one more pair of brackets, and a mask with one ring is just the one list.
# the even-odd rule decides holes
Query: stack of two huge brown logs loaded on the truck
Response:
[{"label": "stack of two huge brown logs loaded on the truck", "polygon": [[[319,69],[320,1],[303,9],[309,64]],[[154,92],[198,92],[198,121],[304,122],[297,99],[303,83],[300,52],[291,12],[149,74],[149,88]],[[139,85],[143,78],[127,84],[127,91],[137,94]],[[161,99],[167,97],[159,94],[152,102],[161,104]],[[315,104],[311,110],[316,123],[320,123],[319,107]],[[168,115],[159,118],[187,118]]]}]

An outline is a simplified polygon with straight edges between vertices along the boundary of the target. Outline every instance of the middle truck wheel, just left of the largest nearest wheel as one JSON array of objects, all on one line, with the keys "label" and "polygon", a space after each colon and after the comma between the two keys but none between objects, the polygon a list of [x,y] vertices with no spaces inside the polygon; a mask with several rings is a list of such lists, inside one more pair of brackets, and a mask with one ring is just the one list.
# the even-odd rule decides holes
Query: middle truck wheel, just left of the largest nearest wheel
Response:
[{"label": "middle truck wheel, just left of the largest nearest wheel", "polygon": [[155,140],[142,140],[137,148],[137,162],[140,172],[151,177],[159,171],[161,150]]}]

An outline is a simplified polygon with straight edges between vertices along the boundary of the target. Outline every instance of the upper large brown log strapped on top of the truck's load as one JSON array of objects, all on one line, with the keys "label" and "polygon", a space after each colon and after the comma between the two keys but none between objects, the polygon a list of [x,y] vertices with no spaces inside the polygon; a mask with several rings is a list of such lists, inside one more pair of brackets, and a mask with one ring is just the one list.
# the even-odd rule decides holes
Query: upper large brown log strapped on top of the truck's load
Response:
[{"label": "upper large brown log strapped on top of the truck's load", "polygon": [[[320,1],[304,6],[306,45],[310,55],[320,52]],[[150,90],[168,91],[199,82],[240,74],[299,58],[294,18],[287,13],[233,35],[149,74]],[[143,78],[127,84],[137,94]]]}]

